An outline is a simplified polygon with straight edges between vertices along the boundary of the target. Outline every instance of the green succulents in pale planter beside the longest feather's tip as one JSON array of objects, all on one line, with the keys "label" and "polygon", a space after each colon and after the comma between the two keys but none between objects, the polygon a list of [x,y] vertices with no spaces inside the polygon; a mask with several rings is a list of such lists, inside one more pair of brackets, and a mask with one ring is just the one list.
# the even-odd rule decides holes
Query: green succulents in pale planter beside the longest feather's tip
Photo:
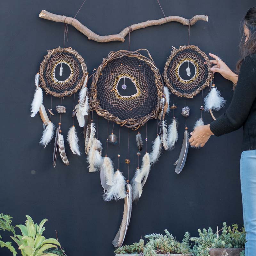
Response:
[{"label": "green succulents in pale planter beside the longest feather's tip", "polygon": [[190,252],[190,236],[186,232],[182,242],[178,242],[174,239],[172,234],[165,229],[165,235],[161,234],[150,234],[146,235],[145,238],[148,239],[148,242],[145,244],[143,239],[140,239],[138,243],[131,245],[124,245],[118,247],[114,253],[116,255],[144,255],[144,256],[184,256],[189,255]]}]

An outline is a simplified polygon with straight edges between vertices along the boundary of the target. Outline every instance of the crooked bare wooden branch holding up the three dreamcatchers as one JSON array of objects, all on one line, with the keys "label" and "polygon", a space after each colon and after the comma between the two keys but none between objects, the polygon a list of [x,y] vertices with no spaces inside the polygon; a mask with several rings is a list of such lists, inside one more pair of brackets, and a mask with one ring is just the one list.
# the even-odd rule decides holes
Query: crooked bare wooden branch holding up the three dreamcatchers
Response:
[{"label": "crooked bare wooden branch holding up the three dreamcatchers", "polygon": [[78,20],[71,18],[71,17],[66,17],[64,15],[63,16],[57,15],[57,14],[47,12],[44,10],[39,14],[39,17],[43,18],[45,20],[52,20],[52,21],[56,21],[56,22],[63,22],[63,23],[70,24],[73,27],[75,27],[78,31],[83,33],[85,36],[87,36],[89,40],[94,40],[94,41],[100,42],[100,43],[106,43],[106,42],[111,42],[111,41],[124,42],[124,40],[125,40],[124,38],[129,33],[129,31],[134,31],[134,30],[137,30],[140,28],[146,28],[146,27],[150,27],[150,26],[162,25],[164,23],[168,23],[171,21],[180,22],[181,24],[187,25],[187,26],[189,25],[189,23],[190,23],[190,25],[194,25],[196,23],[196,21],[198,21],[198,20],[208,21],[208,16],[205,16],[205,15],[196,15],[193,18],[191,18],[190,20],[187,20],[180,16],[169,16],[169,17],[162,18],[159,20],[148,20],[148,21],[144,21],[144,22],[141,22],[138,24],[133,24],[127,28],[124,28],[119,34],[116,34],[116,35],[100,36],[100,35],[97,35],[96,33],[94,33],[89,28],[85,27]]}]

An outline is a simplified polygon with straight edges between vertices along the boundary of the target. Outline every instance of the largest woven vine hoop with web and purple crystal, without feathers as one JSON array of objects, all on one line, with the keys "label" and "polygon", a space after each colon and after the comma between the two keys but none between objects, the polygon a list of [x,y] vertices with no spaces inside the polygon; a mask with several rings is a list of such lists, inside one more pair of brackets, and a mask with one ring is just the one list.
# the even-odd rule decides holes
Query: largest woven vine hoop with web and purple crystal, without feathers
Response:
[{"label": "largest woven vine hoop with web and purple crystal, without feathers", "polygon": [[[141,55],[141,50],[147,51],[149,58]],[[125,81],[131,82],[127,90]],[[120,94],[131,86],[134,86],[131,95]],[[163,81],[148,50],[122,50],[110,52],[95,71],[90,107],[107,120],[137,130],[158,116],[162,97]]]}]

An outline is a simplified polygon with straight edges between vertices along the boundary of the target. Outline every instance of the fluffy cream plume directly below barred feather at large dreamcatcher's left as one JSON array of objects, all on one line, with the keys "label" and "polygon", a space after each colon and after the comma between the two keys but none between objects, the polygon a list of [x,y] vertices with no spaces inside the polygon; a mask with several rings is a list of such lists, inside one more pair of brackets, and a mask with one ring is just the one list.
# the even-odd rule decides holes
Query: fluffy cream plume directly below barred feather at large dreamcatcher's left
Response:
[{"label": "fluffy cream plume directly below barred feather at large dreamcatcher's left", "polygon": [[94,138],[92,148],[87,156],[89,172],[98,172],[100,170],[100,166],[102,165],[101,150],[102,146],[100,140]]}]

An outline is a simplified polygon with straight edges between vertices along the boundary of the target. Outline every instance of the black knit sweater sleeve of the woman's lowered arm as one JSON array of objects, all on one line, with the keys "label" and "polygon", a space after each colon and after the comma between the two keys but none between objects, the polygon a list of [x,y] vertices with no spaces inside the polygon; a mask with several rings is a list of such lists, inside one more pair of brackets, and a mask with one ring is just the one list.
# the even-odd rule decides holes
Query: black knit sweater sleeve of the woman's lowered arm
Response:
[{"label": "black knit sweater sleeve of the woman's lowered arm", "polygon": [[256,64],[246,57],[241,65],[236,90],[227,111],[210,124],[214,135],[238,130],[245,123],[256,98]]}]

